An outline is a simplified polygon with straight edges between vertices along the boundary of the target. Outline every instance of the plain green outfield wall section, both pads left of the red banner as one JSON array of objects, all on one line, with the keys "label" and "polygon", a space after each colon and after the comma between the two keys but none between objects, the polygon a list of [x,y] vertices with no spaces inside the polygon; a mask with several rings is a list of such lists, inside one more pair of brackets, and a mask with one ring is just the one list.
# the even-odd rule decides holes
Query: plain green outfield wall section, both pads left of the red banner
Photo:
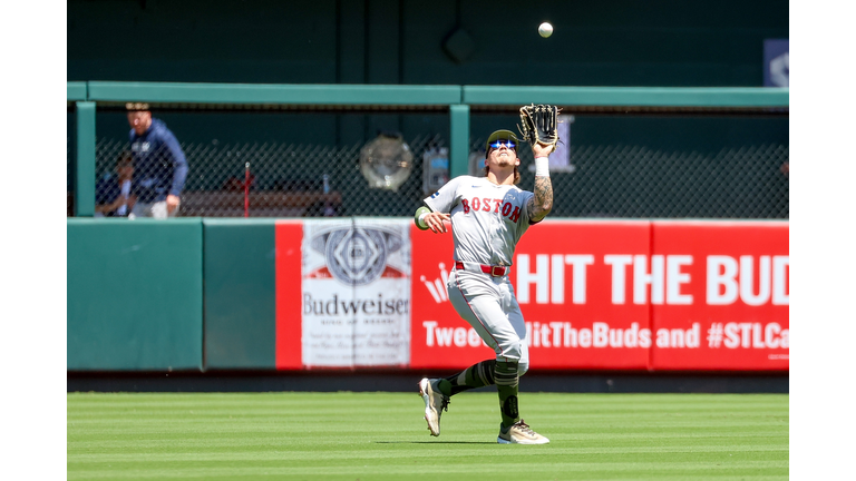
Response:
[{"label": "plain green outfield wall section, both pads left of the red banner", "polygon": [[273,219],[70,218],[67,254],[69,371],[275,367]]}]

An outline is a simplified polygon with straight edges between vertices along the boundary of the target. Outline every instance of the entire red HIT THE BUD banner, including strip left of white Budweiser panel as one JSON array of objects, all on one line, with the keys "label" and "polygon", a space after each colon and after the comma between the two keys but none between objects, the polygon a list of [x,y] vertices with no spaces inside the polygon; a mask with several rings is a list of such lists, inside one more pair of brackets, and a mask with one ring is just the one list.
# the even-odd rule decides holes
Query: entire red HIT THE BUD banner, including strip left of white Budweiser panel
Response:
[{"label": "entire red HIT THE BUD banner, including strip left of white Budweiser panel", "polygon": [[[303,235],[276,225],[283,370],[305,367]],[[411,227],[410,242],[409,367],[493,357],[448,301],[451,233]],[[789,274],[787,222],[544,220],[509,276],[533,370],[787,371]]]}]

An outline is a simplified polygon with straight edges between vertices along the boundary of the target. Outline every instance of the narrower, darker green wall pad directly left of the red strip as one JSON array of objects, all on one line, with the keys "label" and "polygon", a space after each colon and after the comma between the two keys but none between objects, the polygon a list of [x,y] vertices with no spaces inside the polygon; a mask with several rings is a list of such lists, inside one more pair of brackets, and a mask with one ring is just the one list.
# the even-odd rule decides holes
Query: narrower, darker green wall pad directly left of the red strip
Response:
[{"label": "narrower, darker green wall pad directly left of the red strip", "polygon": [[205,219],[203,226],[205,369],[275,369],[274,220]]}]

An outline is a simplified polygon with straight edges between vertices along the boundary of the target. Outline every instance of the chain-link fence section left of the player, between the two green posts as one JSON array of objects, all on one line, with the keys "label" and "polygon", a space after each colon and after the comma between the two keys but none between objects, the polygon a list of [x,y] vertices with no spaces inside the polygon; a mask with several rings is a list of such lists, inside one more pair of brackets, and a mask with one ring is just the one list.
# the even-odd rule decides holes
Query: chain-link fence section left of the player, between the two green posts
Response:
[{"label": "chain-link fence section left of the player, between the two green posts", "polygon": [[[439,136],[407,141],[408,178],[392,189],[372,188],[360,171],[362,145],[212,145],[182,143],[188,175],[182,194],[185,217],[408,216],[426,197],[422,157],[446,145]],[[107,179],[127,141],[100,139],[96,175]]]}]

